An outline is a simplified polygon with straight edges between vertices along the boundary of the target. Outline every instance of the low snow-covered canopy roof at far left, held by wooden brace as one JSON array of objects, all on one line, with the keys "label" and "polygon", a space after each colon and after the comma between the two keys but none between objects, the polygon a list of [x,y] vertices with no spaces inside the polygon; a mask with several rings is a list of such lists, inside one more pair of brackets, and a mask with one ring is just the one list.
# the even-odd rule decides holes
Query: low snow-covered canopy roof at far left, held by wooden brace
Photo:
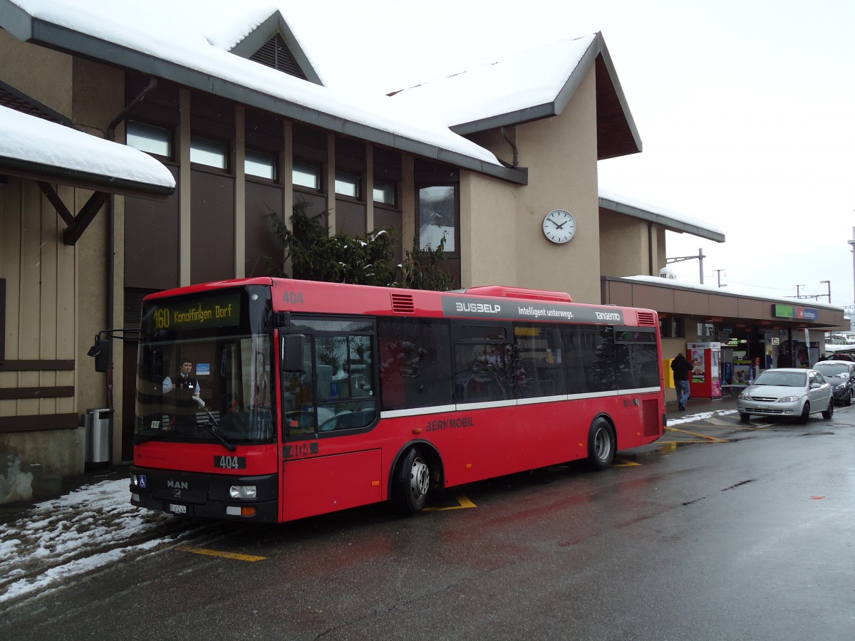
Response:
[{"label": "low snow-covered canopy roof at far left, held by wooden brace", "polygon": [[166,197],[172,173],[142,151],[0,106],[0,172]]}]

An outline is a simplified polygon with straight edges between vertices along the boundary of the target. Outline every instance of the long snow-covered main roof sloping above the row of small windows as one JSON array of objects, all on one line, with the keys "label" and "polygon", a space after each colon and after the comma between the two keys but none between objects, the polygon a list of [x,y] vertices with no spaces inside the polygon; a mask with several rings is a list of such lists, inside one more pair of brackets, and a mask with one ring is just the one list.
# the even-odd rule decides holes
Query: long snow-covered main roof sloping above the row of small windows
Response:
[{"label": "long snow-covered main roof sloping above the row of small windows", "polygon": [[[187,5],[199,9],[196,3]],[[169,0],[124,0],[121,10],[116,6],[112,0],[0,0],[0,26],[23,41],[135,69],[329,131],[516,183],[526,180],[524,172],[505,168],[492,152],[434,118],[413,118],[388,97],[316,85],[227,50],[278,15],[276,9],[251,11],[241,21],[215,28],[215,16],[199,21],[198,10]]]}]

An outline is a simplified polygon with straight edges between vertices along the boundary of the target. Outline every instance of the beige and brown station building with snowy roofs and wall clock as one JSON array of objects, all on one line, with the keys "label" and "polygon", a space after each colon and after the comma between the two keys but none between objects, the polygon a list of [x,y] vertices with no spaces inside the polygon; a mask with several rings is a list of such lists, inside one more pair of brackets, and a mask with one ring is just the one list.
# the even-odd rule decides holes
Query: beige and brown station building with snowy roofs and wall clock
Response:
[{"label": "beige and brown station building with snowy roofs and wall clock", "polygon": [[[445,238],[462,287],[656,309],[666,354],[715,339],[765,356],[844,325],[842,309],[787,316],[658,278],[667,231],[725,238],[600,194],[598,161],[641,151],[601,33],[369,99],[325,84],[310,55],[324,43],[279,11],[218,32],[152,11],[0,0],[0,121],[11,109],[139,154],[81,168],[35,134],[0,141],[0,503],[81,472],[94,409],[111,410],[109,461],[130,459],[142,297],[266,274],[282,251],[270,216],[288,224],[295,203],[333,232],[393,231],[398,257]],[[167,177],[144,171],[152,159]],[[572,216],[571,238],[551,238],[551,212]],[[93,337],[113,348],[106,373]]]}]

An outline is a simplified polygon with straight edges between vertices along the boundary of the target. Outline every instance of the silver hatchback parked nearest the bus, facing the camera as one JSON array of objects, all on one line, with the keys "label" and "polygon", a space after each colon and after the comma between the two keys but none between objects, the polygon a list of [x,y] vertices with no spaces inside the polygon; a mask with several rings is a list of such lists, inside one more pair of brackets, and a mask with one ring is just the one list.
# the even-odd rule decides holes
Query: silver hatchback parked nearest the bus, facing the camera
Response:
[{"label": "silver hatchback parked nearest the bus, facing the camera", "polygon": [[808,416],[834,415],[834,395],[823,374],[815,369],[775,368],[761,373],[736,401],[740,420],[752,415],[795,417],[806,423]]}]

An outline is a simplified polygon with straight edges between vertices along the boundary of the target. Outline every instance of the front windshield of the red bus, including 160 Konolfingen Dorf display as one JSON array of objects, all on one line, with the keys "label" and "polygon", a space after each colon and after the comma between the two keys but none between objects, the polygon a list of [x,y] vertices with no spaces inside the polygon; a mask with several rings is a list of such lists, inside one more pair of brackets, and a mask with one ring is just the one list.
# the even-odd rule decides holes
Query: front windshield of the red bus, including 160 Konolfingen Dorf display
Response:
[{"label": "front windshield of the red bus, including 160 Konolfingen Dorf display", "polygon": [[230,447],[275,439],[271,339],[263,331],[269,306],[258,294],[247,294],[144,303],[137,443],[164,439]]}]

